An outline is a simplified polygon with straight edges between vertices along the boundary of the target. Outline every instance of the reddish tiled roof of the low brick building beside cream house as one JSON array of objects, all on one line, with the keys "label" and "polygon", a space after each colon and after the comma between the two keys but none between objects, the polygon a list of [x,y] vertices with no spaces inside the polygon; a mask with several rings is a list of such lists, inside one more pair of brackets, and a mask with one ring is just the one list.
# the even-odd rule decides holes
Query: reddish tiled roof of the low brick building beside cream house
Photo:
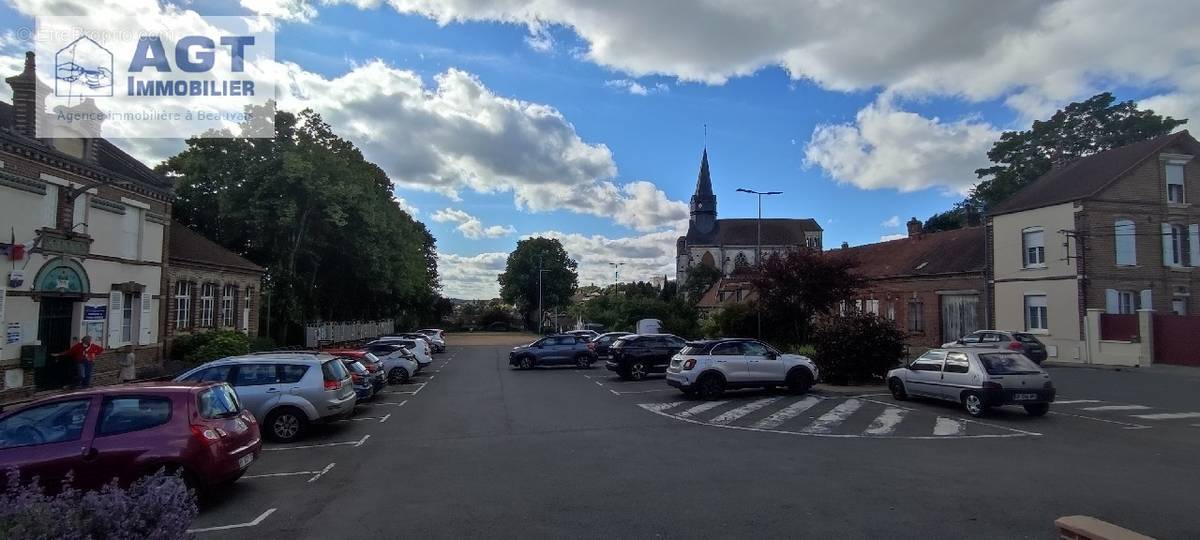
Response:
[{"label": "reddish tiled roof of the low brick building beside cream house", "polygon": [[854,272],[868,280],[983,272],[984,227],[924,233],[878,244],[834,250],[853,257]]}]

